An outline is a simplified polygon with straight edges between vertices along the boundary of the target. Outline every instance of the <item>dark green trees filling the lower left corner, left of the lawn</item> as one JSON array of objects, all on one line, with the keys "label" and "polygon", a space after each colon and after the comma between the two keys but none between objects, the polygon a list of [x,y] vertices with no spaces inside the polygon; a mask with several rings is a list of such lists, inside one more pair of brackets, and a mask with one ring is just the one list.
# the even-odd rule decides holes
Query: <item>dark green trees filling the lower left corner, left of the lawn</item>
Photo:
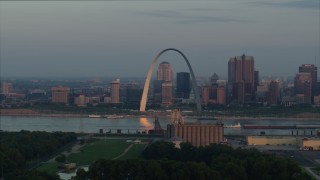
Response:
[{"label": "dark green trees filling the lower left corner, left of the lawn", "polygon": [[[77,139],[75,133],[20,131],[0,132],[0,177],[5,179],[28,179],[29,176],[50,176],[28,169],[41,160],[57,153],[60,148]],[[58,177],[51,177],[58,179]],[[31,178],[32,179],[32,178]]]}]

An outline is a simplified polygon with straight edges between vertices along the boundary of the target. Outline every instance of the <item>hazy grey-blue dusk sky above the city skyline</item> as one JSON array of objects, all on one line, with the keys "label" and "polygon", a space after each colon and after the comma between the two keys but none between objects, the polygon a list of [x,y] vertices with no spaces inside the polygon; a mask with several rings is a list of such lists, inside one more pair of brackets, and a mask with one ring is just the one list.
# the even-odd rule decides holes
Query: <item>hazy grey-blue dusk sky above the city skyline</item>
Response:
[{"label": "hazy grey-blue dusk sky above the city skyline", "polygon": [[[0,2],[1,76],[143,77],[177,48],[196,76],[254,56],[260,75],[319,66],[319,0]],[[175,72],[182,57],[167,52]],[[320,74],[320,73],[319,73]]]}]

